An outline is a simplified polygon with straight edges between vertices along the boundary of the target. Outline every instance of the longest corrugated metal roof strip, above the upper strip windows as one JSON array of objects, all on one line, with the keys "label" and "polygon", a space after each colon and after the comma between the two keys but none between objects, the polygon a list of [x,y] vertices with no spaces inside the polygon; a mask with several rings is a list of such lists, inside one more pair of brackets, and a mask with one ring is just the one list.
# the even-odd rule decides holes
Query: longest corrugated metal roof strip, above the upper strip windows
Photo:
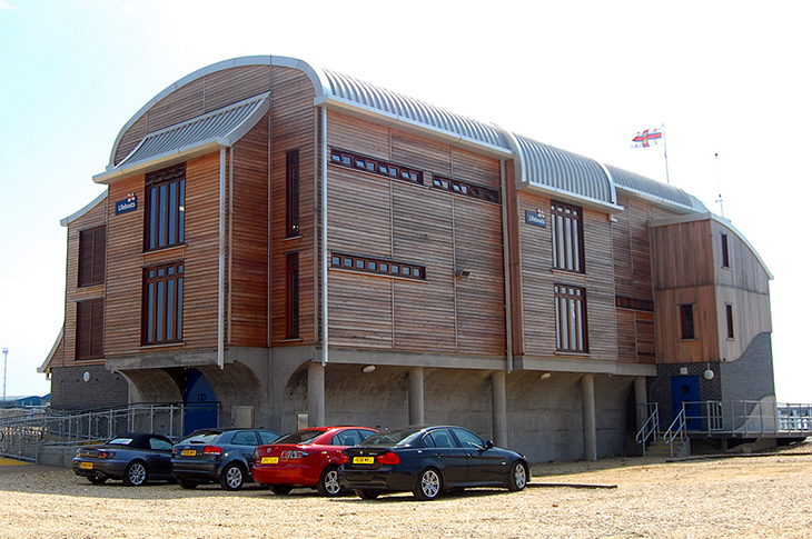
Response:
[{"label": "longest corrugated metal roof strip, above the upper strip windows", "polygon": [[455,114],[423,101],[407,98],[346,74],[324,70],[333,96],[339,99],[402,117],[413,122],[469,140],[507,149],[503,133],[493,126]]}]

